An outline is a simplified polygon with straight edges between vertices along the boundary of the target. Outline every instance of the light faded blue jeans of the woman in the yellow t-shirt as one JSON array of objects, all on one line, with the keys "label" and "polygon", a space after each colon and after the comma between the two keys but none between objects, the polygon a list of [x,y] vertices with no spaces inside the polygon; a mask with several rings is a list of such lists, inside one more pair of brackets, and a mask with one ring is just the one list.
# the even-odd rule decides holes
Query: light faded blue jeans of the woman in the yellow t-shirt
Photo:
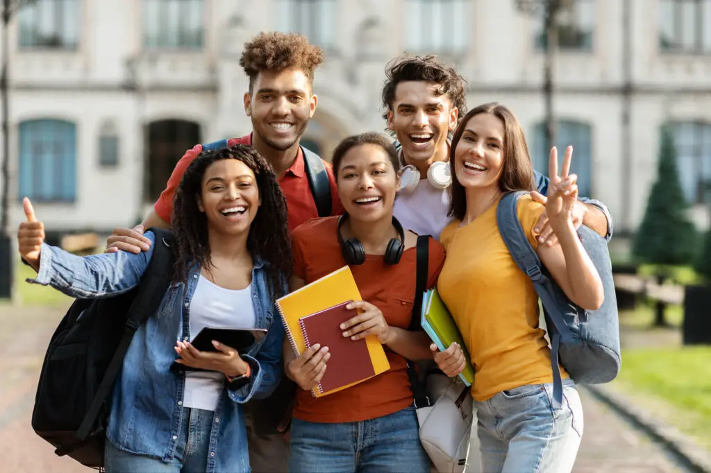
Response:
[{"label": "light faded blue jeans of the woman in the yellow t-shirt", "polygon": [[582,438],[582,404],[563,380],[562,408],[552,384],[531,384],[476,402],[482,473],[570,473]]}]

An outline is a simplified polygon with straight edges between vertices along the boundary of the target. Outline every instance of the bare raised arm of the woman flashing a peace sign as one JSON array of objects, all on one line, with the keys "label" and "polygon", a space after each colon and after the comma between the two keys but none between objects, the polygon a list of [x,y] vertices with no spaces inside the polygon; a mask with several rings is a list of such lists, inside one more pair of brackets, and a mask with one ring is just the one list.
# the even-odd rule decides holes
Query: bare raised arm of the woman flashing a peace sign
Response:
[{"label": "bare raised arm of the woman flashing a peace sign", "polygon": [[558,243],[553,246],[538,245],[538,256],[574,303],[589,310],[598,309],[604,300],[602,281],[592,261],[578,239],[572,222],[572,213],[577,201],[575,175],[568,175],[572,148],[569,146],[560,176],[557,174],[557,150],[550,152],[550,185],[546,213]]}]

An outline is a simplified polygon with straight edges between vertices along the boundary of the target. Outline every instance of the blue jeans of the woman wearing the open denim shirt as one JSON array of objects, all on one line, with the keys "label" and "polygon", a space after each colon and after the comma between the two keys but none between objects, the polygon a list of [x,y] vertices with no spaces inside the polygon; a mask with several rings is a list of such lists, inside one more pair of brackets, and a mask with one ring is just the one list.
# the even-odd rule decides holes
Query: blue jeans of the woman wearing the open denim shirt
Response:
[{"label": "blue jeans of the woman wearing the open denim shirt", "polygon": [[104,464],[107,473],[200,473],[207,470],[213,411],[183,408],[183,423],[173,460],[164,462],[119,450],[107,440]]}]

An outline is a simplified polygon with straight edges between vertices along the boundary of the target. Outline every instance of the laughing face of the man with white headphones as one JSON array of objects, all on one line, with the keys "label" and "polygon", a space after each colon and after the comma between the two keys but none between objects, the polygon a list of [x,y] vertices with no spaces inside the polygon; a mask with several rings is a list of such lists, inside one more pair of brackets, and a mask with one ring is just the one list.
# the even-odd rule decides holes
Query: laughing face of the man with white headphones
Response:
[{"label": "laughing face of the man with white headphones", "polygon": [[447,134],[456,126],[457,109],[449,97],[437,94],[439,85],[425,81],[400,82],[387,112],[387,128],[395,131],[408,164],[429,164],[438,150],[447,149]]}]

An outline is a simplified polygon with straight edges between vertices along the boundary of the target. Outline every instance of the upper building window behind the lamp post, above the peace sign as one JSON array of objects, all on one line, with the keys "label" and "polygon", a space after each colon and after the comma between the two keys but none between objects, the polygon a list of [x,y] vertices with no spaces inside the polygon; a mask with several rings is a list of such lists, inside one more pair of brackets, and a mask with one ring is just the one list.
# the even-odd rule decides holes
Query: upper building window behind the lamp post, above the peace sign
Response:
[{"label": "upper building window behind the lamp post, above the peace sign", "polygon": [[[545,50],[547,36],[545,33],[545,11],[538,9],[538,28],[535,33],[536,48]],[[572,0],[570,6],[564,7],[556,18],[558,33],[558,48],[561,50],[592,51],[592,36],[595,26],[595,1]]]}]

